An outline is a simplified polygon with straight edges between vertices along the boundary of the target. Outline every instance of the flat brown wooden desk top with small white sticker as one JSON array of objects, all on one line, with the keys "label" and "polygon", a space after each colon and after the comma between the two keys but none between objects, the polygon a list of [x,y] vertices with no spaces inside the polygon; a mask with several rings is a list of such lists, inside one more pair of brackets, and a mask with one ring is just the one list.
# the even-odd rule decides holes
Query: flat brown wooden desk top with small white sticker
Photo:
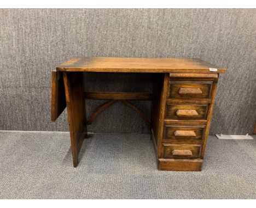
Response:
[{"label": "flat brown wooden desk top with small white sticker", "polygon": [[[211,69],[210,69],[211,68]],[[195,58],[74,57],[56,67],[57,71],[225,73],[226,69]]]}]

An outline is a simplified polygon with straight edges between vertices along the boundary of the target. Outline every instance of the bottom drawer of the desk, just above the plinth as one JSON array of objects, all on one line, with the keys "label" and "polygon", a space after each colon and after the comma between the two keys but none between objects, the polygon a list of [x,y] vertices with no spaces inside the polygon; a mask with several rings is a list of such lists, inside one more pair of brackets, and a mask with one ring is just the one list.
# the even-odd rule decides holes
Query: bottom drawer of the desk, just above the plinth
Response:
[{"label": "bottom drawer of the desk, just above the plinth", "polygon": [[199,158],[200,144],[162,144],[162,158]]}]

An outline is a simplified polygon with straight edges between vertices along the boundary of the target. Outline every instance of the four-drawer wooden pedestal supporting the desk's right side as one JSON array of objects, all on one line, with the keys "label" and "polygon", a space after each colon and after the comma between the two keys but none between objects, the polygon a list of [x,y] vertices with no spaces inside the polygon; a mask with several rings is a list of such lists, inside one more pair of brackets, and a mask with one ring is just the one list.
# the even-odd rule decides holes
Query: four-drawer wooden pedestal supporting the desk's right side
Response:
[{"label": "four-drawer wooden pedestal supporting the desk's right side", "polygon": [[[159,80],[159,79],[158,79]],[[165,74],[154,83],[152,139],[159,170],[201,171],[218,74]]]}]

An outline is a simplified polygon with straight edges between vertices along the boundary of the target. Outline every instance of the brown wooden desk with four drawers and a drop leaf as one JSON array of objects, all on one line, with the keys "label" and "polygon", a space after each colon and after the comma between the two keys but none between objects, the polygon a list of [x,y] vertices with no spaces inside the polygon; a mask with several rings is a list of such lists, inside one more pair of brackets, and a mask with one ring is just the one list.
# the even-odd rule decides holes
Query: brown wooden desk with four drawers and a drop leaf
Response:
[{"label": "brown wooden desk with four drawers and a drop leaf", "polygon": [[[97,115],[120,101],[148,125],[159,170],[200,171],[213,112],[217,81],[225,69],[191,58],[75,57],[52,72],[51,120],[67,106],[73,165]],[[83,72],[155,73],[153,92],[84,91]],[[86,119],[85,99],[109,100]],[[152,100],[152,118],[129,100]]]}]

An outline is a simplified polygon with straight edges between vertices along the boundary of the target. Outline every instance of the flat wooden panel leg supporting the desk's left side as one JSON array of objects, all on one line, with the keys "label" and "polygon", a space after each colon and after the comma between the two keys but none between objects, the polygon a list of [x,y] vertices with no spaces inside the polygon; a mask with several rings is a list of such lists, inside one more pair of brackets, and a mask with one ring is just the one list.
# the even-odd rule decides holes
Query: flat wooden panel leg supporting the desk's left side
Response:
[{"label": "flat wooden panel leg supporting the desk's left side", "polygon": [[83,72],[63,72],[73,165],[87,136]]}]

